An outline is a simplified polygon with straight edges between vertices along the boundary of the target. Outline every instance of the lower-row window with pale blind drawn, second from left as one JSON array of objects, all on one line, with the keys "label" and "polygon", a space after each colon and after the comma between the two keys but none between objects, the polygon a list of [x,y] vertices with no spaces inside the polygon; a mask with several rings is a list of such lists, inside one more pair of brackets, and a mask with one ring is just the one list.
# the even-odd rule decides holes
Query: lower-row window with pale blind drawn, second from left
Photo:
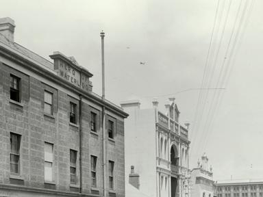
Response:
[{"label": "lower-row window with pale blind drawn, second from left", "polygon": [[53,144],[45,142],[45,181],[53,181]]}]

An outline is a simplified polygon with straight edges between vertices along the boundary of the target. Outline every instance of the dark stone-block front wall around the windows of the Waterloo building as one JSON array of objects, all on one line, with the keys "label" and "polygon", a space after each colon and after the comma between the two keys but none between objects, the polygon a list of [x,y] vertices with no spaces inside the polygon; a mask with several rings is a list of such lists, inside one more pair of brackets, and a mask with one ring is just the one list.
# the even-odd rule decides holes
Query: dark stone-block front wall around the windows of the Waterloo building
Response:
[{"label": "dark stone-block front wall around the windows of the Waterloo building", "polygon": [[[21,78],[21,103],[10,101],[10,73]],[[53,93],[53,114],[43,111],[44,90]],[[77,115],[77,124],[69,122],[69,103],[82,106],[82,120]],[[99,107],[98,107],[99,108]],[[97,132],[90,130],[90,111],[97,114]],[[105,179],[108,188],[108,160],[114,161],[114,190],[116,196],[125,196],[124,190],[124,123],[114,120],[114,140],[106,136]],[[79,123],[82,124],[82,192],[83,194],[103,195],[103,135],[101,110],[86,102],[68,96],[38,79],[14,70],[0,63],[0,184],[23,185],[42,189],[55,189],[63,192],[79,191]],[[21,173],[10,176],[10,132],[21,137]],[[53,183],[45,183],[45,142],[53,144]],[[77,184],[70,183],[70,149],[77,151]],[[90,155],[97,157],[97,187],[91,187]],[[13,177],[14,179],[11,179]],[[18,181],[16,181],[18,180]],[[112,194],[111,194],[112,195]]]}]

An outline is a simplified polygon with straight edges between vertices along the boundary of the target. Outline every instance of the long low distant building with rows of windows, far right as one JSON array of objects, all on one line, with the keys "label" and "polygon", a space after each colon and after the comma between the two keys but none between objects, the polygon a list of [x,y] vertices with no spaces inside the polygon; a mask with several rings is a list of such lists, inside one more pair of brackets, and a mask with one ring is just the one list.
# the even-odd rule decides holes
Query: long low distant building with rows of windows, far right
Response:
[{"label": "long low distant building with rows of windows, far right", "polygon": [[217,197],[263,197],[263,179],[216,182]]}]

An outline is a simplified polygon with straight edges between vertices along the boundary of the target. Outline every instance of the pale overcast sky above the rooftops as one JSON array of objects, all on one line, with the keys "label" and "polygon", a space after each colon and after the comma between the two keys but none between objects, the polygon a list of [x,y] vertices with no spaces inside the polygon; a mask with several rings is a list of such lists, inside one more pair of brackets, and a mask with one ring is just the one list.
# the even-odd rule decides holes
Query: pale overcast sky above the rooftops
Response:
[{"label": "pale overcast sky above the rooftops", "polygon": [[[221,55],[216,61],[218,69],[212,81],[224,61],[240,1],[233,0],[229,7]],[[249,14],[244,16],[246,25],[240,29],[227,83],[220,87],[226,89],[221,90],[223,96],[218,99],[220,107],[212,119],[212,127],[206,131],[203,123],[199,129],[190,129],[190,166],[197,166],[197,158],[205,152],[215,180],[230,179],[231,175],[233,179],[263,178],[263,2],[244,0],[241,10],[247,1],[248,5],[252,1],[255,4],[250,18]],[[0,2],[1,17],[9,16],[16,23],[15,42],[47,59],[53,51],[74,56],[94,74],[91,80],[97,94],[101,94],[99,33],[103,29],[106,98],[116,104],[140,99],[141,107],[145,108],[151,107],[153,97],[158,97],[160,105],[164,105],[168,97],[175,96],[181,123],[188,120],[190,128],[198,126],[195,117],[201,117],[202,109],[196,111],[199,91],[181,91],[201,87],[217,0]],[[220,2],[221,26],[215,28],[215,44],[220,43],[230,0]],[[249,18],[247,22],[246,18]],[[217,49],[214,48],[214,54]],[[208,64],[208,68],[212,65]],[[210,83],[209,87],[214,88],[214,84]],[[203,103],[210,106],[213,95],[214,90],[208,91],[208,99],[203,99]],[[204,110],[200,123],[209,118]]]}]

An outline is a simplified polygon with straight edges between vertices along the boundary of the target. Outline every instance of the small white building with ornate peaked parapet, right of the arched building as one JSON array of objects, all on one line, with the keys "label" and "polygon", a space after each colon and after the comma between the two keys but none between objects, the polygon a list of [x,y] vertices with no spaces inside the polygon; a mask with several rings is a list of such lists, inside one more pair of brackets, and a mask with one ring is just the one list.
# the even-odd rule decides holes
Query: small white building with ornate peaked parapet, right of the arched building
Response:
[{"label": "small white building with ornate peaked parapet, right of the arched building", "polygon": [[208,157],[203,154],[201,163],[191,171],[191,197],[213,197],[214,181],[212,167],[208,169]]}]

